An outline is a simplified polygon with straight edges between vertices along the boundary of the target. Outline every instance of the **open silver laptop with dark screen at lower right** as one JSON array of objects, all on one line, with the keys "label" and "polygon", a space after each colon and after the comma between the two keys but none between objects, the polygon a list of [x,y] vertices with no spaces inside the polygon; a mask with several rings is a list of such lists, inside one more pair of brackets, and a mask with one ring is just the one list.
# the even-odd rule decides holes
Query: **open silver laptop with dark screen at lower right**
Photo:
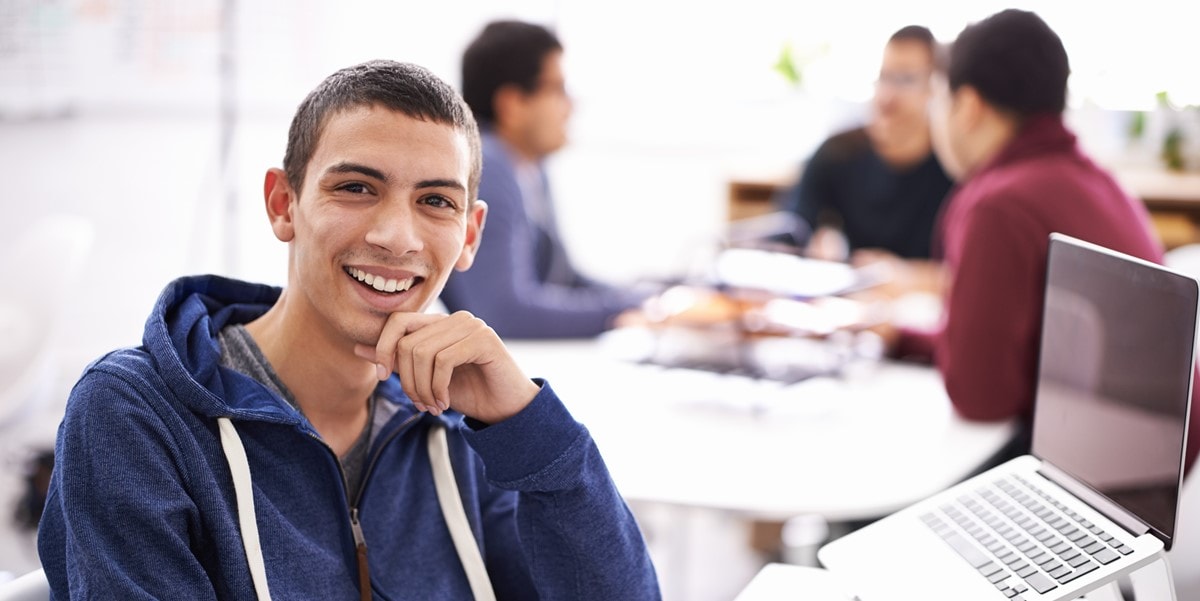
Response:
[{"label": "open silver laptop with dark screen at lower right", "polygon": [[1031,455],[823,546],[862,601],[1069,600],[1170,549],[1196,281],[1051,234]]}]

